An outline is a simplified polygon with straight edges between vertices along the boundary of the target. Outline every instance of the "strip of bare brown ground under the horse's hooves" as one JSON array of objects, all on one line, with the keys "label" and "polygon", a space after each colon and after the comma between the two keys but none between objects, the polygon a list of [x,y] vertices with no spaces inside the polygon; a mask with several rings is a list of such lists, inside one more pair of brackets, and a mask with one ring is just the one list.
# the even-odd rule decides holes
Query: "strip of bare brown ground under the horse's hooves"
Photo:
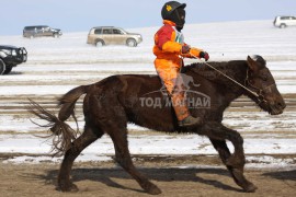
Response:
[{"label": "strip of bare brown ground under the horse's hooves", "polygon": [[[2,155],[3,157],[3,155]],[[281,155],[278,155],[281,157]],[[139,171],[161,188],[159,196],[250,196],[238,187],[217,157],[134,157]],[[195,167],[175,167],[194,163]],[[219,164],[218,164],[219,163]],[[196,166],[203,164],[204,166]],[[75,163],[72,181],[78,193],[56,190],[59,164],[0,163],[1,197],[10,196],[150,196],[113,162]],[[294,196],[295,169],[246,170],[259,189],[252,196]]]}]

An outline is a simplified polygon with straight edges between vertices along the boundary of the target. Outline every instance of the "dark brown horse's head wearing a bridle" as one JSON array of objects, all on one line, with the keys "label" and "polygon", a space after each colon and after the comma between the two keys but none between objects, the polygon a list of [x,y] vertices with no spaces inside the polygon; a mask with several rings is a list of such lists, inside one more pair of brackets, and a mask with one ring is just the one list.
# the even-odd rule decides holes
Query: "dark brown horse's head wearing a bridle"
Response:
[{"label": "dark brown horse's head wearing a bridle", "polygon": [[286,104],[280,94],[273,76],[266,68],[266,61],[261,56],[248,56],[246,86],[258,96],[248,94],[263,111],[271,115],[282,114]]}]

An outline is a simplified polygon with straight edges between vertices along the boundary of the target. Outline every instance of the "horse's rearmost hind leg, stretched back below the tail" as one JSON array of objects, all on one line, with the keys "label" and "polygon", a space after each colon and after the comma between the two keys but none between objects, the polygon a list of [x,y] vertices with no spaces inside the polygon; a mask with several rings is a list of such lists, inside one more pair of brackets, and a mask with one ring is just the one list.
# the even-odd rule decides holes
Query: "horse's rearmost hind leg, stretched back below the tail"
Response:
[{"label": "horse's rearmost hind leg, stretched back below the tail", "polygon": [[70,172],[75,159],[80,154],[80,152],[95,141],[98,138],[102,137],[103,132],[94,127],[86,124],[83,134],[77,138],[69,150],[67,150],[62,163],[60,165],[58,175],[58,190],[61,192],[77,192],[78,187],[70,181]]}]

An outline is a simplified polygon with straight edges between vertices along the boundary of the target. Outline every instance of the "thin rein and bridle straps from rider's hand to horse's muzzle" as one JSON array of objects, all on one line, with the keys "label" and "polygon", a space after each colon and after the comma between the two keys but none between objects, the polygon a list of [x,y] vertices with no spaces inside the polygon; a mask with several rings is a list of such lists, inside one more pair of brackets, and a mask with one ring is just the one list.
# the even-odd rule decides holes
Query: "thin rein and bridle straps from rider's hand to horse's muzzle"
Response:
[{"label": "thin rein and bridle straps from rider's hand to horse's muzzle", "polygon": [[[194,56],[193,54],[190,54],[190,55],[191,55],[192,57],[194,57],[195,59],[201,60],[200,58],[197,58],[197,57]],[[208,67],[212,68],[213,70],[217,71],[218,73],[220,73],[220,74],[224,76],[225,78],[229,79],[229,80],[232,81],[234,83],[238,84],[238,85],[241,86],[242,89],[247,90],[249,93],[251,93],[252,95],[254,95],[254,96],[258,99],[258,101],[259,101],[260,103],[267,103],[266,100],[264,99],[262,92],[263,92],[265,89],[271,88],[271,86],[273,86],[273,85],[275,85],[275,84],[269,85],[269,86],[264,88],[263,90],[261,90],[261,89],[259,89],[259,88],[252,85],[252,84],[250,83],[250,81],[249,81],[249,69],[247,69],[247,77],[246,77],[246,79],[244,79],[244,85],[242,85],[242,84],[240,84],[238,81],[236,81],[235,79],[230,78],[229,76],[223,73],[221,71],[219,71],[218,69],[216,69],[215,67],[213,67],[212,65],[209,65],[209,63],[207,63],[207,62],[205,62],[205,61],[203,61],[203,63],[205,63],[206,66],[208,66]],[[253,92],[253,91],[251,91],[250,89],[248,89],[248,88],[246,86],[247,84],[249,84],[251,88],[253,88],[253,89],[255,89],[255,90],[259,90],[259,93]]]}]

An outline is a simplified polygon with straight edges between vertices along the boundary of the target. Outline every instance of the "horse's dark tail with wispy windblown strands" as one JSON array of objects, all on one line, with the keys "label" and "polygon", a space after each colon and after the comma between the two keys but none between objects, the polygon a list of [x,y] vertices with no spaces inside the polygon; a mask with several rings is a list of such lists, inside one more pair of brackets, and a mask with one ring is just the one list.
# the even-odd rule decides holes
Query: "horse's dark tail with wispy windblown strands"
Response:
[{"label": "horse's dark tail with wispy windblown strands", "polygon": [[75,88],[59,99],[60,109],[58,117],[54,113],[48,112],[39,104],[30,100],[31,105],[27,107],[29,112],[47,121],[46,125],[39,125],[35,121],[33,123],[41,127],[50,127],[49,130],[53,134],[50,134],[48,137],[54,137],[52,148],[52,151],[54,152],[53,155],[65,153],[71,147],[71,142],[77,138],[79,129],[73,130],[65,121],[70,117],[70,115],[72,115],[77,124],[75,105],[78,99],[88,92],[88,88],[89,85]]}]

